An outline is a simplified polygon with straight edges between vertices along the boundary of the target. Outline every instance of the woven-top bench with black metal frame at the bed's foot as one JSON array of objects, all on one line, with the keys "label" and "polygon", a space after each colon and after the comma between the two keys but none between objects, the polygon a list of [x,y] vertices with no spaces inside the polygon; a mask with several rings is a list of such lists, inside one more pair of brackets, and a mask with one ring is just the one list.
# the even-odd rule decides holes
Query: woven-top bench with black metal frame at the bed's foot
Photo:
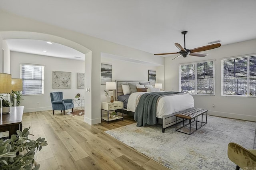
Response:
[{"label": "woven-top bench with black metal frame at the bed's foot", "polygon": [[[190,109],[186,109],[184,111],[178,112],[175,116],[176,116],[176,125],[175,125],[175,130],[178,132],[182,132],[182,133],[186,133],[184,131],[181,131],[180,129],[186,127],[187,125],[189,125],[189,133],[187,132],[186,134],[192,134],[194,133],[196,130],[198,130],[199,128],[201,128],[202,126],[204,126],[207,123],[207,109],[201,109],[201,108],[190,108]],[[203,122],[203,115],[204,113],[206,113],[206,121]],[[198,121],[198,116],[202,115],[202,120]],[[182,118],[182,127],[177,129],[177,118]],[[189,123],[187,125],[184,125],[184,119],[188,119]],[[194,121],[192,121],[192,119],[194,119]],[[179,119],[180,120],[180,119]],[[191,132],[191,123],[196,122],[196,128],[193,132]],[[201,126],[198,127],[198,122],[201,123]],[[204,123],[204,124],[203,124]]]}]

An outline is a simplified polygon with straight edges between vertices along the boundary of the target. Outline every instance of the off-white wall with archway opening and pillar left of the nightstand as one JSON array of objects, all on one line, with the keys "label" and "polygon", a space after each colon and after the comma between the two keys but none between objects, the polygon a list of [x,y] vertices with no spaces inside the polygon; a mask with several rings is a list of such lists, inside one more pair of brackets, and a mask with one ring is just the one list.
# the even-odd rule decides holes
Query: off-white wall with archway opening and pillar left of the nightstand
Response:
[{"label": "off-white wall with archway opening and pillar left of the nightstand", "polygon": [[[116,43],[108,42],[78,32],[66,30],[57,26],[52,26],[49,24],[44,24],[42,22],[37,22],[30,20],[24,17],[20,17],[14,14],[10,14],[0,10],[0,34],[4,32],[13,32],[13,38],[28,38],[28,39],[38,39],[44,40],[43,38],[38,38],[38,36],[24,36],[24,33],[42,33],[46,35],[52,35],[62,39],[69,40],[73,43],[67,45],[67,43],[57,42],[63,45],[67,45],[74,49],[79,50],[78,45],[82,47],[87,47],[91,50],[91,56],[88,61],[91,63],[85,62],[85,67],[91,68],[88,69],[86,74],[90,74],[91,80],[85,80],[85,88],[90,88],[90,93],[85,94],[86,107],[85,107],[85,121],[90,125],[100,123],[100,57],[101,53],[108,53],[118,56],[124,56],[131,59],[139,59],[141,61],[148,61],[150,63],[157,63],[164,65],[163,57],[156,57],[153,54],[140,51],[131,47],[124,45],[119,45]],[[21,24],[22,23],[22,24]],[[2,37],[3,39],[10,39],[8,37]],[[49,41],[49,40],[48,40]],[[52,42],[55,42],[53,40]],[[84,51],[81,51],[84,53]],[[85,53],[87,56],[87,53]],[[90,72],[89,72],[90,71]],[[88,102],[88,103],[87,103]],[[88,110],[87,110],[88,109]]]}]

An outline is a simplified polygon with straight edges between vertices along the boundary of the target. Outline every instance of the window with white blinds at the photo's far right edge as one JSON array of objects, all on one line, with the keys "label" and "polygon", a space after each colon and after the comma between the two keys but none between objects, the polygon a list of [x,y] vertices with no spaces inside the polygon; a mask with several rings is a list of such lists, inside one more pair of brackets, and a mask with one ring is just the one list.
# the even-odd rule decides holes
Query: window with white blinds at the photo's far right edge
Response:
[{"label": "window with white blinds at the photo's far right edge", "polygon": [[221,60],[221,95],[256,96],[256,56]]}]

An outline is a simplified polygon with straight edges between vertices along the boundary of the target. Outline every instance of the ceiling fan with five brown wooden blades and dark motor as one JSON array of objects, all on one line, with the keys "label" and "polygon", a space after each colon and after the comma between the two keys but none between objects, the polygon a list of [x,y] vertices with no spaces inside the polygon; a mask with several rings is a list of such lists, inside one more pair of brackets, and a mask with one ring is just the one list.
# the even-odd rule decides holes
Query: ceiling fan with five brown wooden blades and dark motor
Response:
[{"label": "ceiling fan with five brown wooden blades and dark motor", "polygon": [[206,45],[206,46],[202,46],[202,47],[197,47],[194,49],[186,49],[186,41],[185,41],[185,34],[187,34],[187,31],[182,31],[181,34],[184,35],[184,48],[179,44],[179,43],[174,43],[176,45],[176,47],[180,50],[179,52],[176,53],[159,53],[159,54],[155,54],[155,55],[167,55],[167,54],[180,54],[177,57],[175,57],[174,59],[180,57],[181,55],[183,57],[186,57],[187,55],[193,55],[196,57],[205,57],[206,53],[199,53],[200,51],[206,51],[209,49],[214,49],[214,48],[218,48],[221,46],[220,43],[215,43],[215,44],[211,44],[211,45]]}]

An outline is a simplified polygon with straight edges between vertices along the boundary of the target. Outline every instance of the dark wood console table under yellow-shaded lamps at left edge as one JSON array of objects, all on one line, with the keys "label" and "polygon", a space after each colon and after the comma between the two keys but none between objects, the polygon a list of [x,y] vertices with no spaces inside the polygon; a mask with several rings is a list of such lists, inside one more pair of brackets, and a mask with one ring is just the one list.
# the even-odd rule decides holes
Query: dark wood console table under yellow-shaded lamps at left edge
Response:
[{"label": "dark wood console table under yellow-shaded lamps at left edge", "polygon": [[9,131],[9,138],[22,131],[22,116],[24,106],[11,107],[10,113],[3,114],[3,121],[0,122],[0,132]]}]

